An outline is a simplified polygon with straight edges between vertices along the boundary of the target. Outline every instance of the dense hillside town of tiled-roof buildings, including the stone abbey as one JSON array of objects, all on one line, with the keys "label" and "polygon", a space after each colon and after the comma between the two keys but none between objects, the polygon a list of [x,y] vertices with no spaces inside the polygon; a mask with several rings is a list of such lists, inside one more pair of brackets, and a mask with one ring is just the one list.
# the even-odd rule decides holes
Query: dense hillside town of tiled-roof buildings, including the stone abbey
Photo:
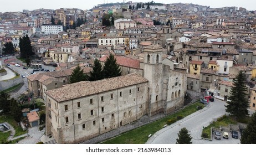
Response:
[{"label": "dense hillside town of tiled-roof buildings, including the stone abbey", "polygon": [[[32,54],[21,61],[26,36]],[[121,76],[70,83],[77,66],[90,75],[110,55]],[[56,143],[85,142],[207,95],[228,101],[240,71],[256,110],[256,11],[239,6],[152,1],[0,12],[0,56],[0,69],[23,68],[17,81],[25,80],[29,99],[43,100],[45,135]],[[14,85],[7,83],[0,91]],[[39,125],[33,115],[31,127]]]}]

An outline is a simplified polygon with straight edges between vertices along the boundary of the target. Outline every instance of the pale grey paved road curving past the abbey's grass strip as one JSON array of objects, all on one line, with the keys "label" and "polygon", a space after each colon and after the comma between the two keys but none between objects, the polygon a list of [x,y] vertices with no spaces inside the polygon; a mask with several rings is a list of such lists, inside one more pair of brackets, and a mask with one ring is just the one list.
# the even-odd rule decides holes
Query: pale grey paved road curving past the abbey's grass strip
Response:
[{"label": "pale grey paved road curving past the abbey's grass strip", "polygon": [[[206,143],[201,139],[202,128],[208,126],[210,122],[216,120],[216,118],[226,113],[224,108],[225,104],[226,102],[215,100],[202,110],[199,110],[192,115],[187,116],[182,120],[156,132],[152,137],[149,138],[147,143],[175,144],[176,138],[178,137],[177,133],[183,127],[186,127],[187,130],[190,131],[191,137],[193,137],[193,143]],[[237,142],[235,141],[234,143]]]}]

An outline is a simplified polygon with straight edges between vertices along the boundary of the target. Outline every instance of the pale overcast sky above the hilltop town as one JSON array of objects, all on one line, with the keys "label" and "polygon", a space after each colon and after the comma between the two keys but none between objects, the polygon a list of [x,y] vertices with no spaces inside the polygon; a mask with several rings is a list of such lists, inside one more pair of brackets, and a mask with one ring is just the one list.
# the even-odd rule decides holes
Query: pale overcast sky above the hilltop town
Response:
[{"label": "pale overcast sky above the hilltop town", "polygon": [[[151,0],[152,1],[152,0]],[[116,0],[105,0],[105,3],[123,2]],[[127,0],[126,0],[127,2]],[[149,0],[140,0],[132,2],[149,2]],[[238,0],[159,0],[154,2],[161,3],[193,3],[200,4],[202,6],[210,6],[211,8],[217,7],[243,7],[249,11],[256,10],[256,1],[238,1]],[[0,1],[0,12],[15,12],[22,11],[23,9],[57,9],[57,8],[79,8],[79,9],[91,9],[97,4],[104,3],[104,0],[1,0]]]}]

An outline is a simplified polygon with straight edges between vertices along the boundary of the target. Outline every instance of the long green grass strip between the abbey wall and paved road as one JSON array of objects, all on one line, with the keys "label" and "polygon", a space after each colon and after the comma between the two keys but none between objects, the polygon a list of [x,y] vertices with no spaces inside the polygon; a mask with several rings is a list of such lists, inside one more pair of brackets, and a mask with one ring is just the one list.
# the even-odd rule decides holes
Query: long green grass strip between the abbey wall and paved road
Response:
[{"label": "long green grass strip between the abbey wall and paved road", "polygon": [[169,119],[175,119],[177,116],[183,116],[186,117],[194,112],[197,111],[197,106],[202,106],[199,102],[196,104],[187,106],[186,108],[183,108],[183,110],[178,111],[170,116],[167,116],[165,118],[162,118],[161,120],[152,122],[150,124],[147,124],[145,126],[136,128],[135,130],[131,130],[129,132],[126,132],[120,136],[117,136],[115,138],[109,139],[104,144],[144,144],[147,142],[147,139],[149,139],[150,134],[153,135],[153,133],[156,133],[157,131],[161,130],[164,125],[166,125],[167,120]]}]

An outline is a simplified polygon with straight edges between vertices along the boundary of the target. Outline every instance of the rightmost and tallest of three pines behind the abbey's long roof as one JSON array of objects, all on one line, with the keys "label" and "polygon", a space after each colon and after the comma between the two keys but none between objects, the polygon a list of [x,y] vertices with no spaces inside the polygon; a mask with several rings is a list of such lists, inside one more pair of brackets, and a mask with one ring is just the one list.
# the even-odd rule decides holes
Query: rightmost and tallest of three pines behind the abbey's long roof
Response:
[{"label": "rightmost and tallest of three pines behind the abbey's long roof", "polygon": [[104,73],[105,79],[121,76],[121,68],[119,65],[117,65],[115,56],[113,54],[110,54],[107,57],[104,68],[103,68],[103,73]]}]

